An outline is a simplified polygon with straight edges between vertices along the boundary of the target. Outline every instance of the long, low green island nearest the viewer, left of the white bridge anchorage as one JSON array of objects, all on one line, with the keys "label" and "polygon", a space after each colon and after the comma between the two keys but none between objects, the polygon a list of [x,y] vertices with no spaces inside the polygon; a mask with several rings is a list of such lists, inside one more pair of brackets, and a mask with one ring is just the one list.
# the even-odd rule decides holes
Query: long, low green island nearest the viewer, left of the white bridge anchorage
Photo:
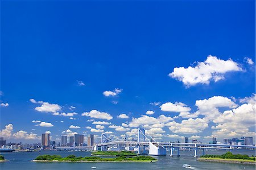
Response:
[{"label": "long, low green island nearest the viewer, left of the white bridge anchorage", "polygon": [[67,157],[61,157],[60,155],[40,155],[36,157],[35,162],[154,162],[157,161],[151,156],[118,156],[118,157],[97,157],[86,156],[76,157],[75,155],[69,155]]}]

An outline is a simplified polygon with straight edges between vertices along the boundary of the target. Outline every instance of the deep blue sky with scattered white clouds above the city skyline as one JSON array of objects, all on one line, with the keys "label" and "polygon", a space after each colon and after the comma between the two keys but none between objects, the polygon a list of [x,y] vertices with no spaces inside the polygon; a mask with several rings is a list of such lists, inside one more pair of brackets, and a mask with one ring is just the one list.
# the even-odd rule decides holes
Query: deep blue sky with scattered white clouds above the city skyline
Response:
[{"label": "deep blue sky with scattered white clouds above the city skyline", "polygon": [[254,1],[2,1],[0,135],[253,136],[254,62]]}]

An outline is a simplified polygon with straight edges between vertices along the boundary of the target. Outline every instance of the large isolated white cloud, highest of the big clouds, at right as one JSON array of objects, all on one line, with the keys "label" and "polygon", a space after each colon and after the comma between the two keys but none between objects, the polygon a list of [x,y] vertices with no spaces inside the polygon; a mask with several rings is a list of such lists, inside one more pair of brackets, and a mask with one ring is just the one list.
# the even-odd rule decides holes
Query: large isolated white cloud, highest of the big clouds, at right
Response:
[{"label": "large isolated white cloud, highest of the big clouds, at right", "polygon": [[196,84],[209,84],[212,80],[215,82],[223,80],[225,73],[233,71],[242,71],[242,68],[231,59],[225,61],[209,55],[207,60],[198,62],[195,67],[174,68],[174,72],[168,76],[182,81],[189,87]]}]

